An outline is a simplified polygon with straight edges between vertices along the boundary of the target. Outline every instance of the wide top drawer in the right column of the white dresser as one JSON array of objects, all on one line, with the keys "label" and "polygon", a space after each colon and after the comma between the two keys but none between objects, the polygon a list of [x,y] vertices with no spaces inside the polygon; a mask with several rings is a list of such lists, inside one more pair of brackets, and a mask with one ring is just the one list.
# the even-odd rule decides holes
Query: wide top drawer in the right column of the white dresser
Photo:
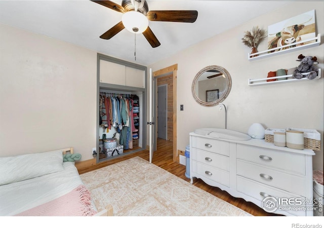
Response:
[{"label": "wide top drawer in the right column of the white dresser", "polygon": [[237,144],[236,156],[238,159],[261,165],[305,174],[305,155],[303,154]]}]

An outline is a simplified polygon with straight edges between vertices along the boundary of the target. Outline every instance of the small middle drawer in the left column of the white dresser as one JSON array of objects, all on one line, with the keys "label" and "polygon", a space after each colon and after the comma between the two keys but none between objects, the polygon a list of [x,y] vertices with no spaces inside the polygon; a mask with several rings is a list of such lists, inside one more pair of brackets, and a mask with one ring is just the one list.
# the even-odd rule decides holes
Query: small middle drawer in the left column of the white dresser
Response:
[{"label": "small middle drawer in the left column of the white dresser", "polygon": [[211,153],[205,150],[192,148],[190,151],[190,159],[203,163],[208,166],[216,167],[225,171],[229,171],[229,158],[224,155]]}]

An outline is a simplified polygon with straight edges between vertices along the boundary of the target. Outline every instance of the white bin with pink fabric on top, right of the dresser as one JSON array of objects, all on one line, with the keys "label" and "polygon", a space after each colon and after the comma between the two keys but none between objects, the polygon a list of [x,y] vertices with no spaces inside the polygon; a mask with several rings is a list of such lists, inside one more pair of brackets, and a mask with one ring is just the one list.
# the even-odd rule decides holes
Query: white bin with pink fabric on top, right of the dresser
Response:
[{"label": "white bin with pink fabric on top, right of the dresser", "polygon": [[323,171],[313,171],[313,200],[316,203],[314,216],[323,216]]}]

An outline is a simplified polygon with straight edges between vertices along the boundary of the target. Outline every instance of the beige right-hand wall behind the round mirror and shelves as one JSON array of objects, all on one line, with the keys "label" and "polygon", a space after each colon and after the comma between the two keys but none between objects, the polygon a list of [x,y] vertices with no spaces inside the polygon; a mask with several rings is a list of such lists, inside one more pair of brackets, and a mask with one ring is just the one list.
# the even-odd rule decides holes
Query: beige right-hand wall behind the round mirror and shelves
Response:
[{"label": "beige right-hand wall behind the round mirror and shelves", "polygon": [[[321,133],[321,151],[315,151],[313,168],[323,169],[323,72],[316,81],[248,86],[249,78],[266,78],[268,71],[297,66],[295,60],[299,54],[317,56],[317,67],[323,69],[323,41],[317,47],[255,61],[248,60],[251,49],[241,43],[244,32],[255,25],[267,29],[268,25],[313,9],[316,32],[323,34],[324,3],[293,2],[148,66],[155,71],[178,64],[177,149],[185,149],[189,144],[189,132],[196,128],[224,128],[224,112],[219,112],[218,106],[199,105],[191,95],[191,83],[196,73],[208,65],[219,65],[226,68],[232,78],[232,89],[223,102],[228,110],[227,128],[247,133],[251,124],[261,123],[265,128],[316,129]],[[259,51],[267,49],[266,43],[264,41],[260,44]],[[180,111],[180,104],[184,104],[184,111]]]}]

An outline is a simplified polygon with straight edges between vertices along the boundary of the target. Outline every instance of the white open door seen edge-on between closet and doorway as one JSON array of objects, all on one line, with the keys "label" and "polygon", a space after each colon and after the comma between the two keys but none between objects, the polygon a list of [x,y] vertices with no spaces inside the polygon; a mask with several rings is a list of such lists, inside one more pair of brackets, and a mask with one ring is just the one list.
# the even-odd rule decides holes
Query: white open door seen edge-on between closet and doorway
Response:
[{"label": "white open door seen edge-on between closet and doorway", "polygon": [[155,129],[155,122],[154,122],[154,99],[153,99],[153,94],[154,94],[154,84],[153,84],[153,77],[152,77],[152,69],[150,68],[150,76],[149,76],[149,87],[150,87],[150,101],[149,101],[149,122],[147,124],[149,125],[149,162],[152,163],[153,160],[153,153],[154,153],[154,129]]}]

